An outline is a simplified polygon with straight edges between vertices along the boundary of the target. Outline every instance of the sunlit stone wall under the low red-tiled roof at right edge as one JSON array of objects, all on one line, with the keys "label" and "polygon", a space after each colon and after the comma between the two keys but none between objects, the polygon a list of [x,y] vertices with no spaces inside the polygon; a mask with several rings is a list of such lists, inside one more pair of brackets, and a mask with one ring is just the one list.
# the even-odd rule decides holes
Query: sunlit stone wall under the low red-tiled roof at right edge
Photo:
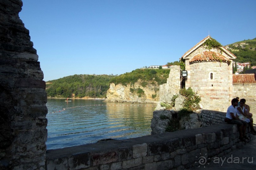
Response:
[{"label": "sunlit stone wall under the low red-tiled roof at right edge", "polygon": [[233,84],[233,98],[256,98],[256,83]]}]

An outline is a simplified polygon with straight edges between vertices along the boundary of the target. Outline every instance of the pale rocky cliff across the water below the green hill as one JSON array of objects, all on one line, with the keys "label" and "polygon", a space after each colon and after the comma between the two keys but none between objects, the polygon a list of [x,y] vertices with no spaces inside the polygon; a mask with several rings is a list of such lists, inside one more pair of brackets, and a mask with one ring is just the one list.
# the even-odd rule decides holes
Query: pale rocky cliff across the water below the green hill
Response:
[{"label": "pale rocky cliff across the water below the green hill", "polygon": [[121,85],[111,83],[107,92],[108,102],[128,103],[156,103],[159,100],[159,85],[156,82],[148,82],[144,87],[139,79],[134,85]]}]

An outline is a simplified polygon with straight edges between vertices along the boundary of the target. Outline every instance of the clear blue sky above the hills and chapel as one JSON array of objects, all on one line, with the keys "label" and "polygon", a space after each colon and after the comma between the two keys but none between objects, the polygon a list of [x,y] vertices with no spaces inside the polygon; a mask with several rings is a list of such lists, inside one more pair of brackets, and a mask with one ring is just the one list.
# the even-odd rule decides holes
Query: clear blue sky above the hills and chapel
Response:
[{"label": "clear blue sky above the hills and chapel", "polygon": [[44,81],[123,74],[179,58],[208,36],[256,37],[255,0],[23,0]]}]

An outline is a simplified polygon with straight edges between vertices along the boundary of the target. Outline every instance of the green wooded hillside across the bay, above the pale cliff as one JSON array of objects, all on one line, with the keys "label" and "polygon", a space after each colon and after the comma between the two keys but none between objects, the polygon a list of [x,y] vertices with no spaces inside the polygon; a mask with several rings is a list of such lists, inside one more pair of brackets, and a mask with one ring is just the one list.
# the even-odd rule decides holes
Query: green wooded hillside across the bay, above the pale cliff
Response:
[{"label": "green wooded hillside across the bay, above the pale cliff", "polygon": [[119,76],[75,74],[47,81],[46,92],[47,97],[56,98],[105,98],[110,83],[127,85],[141,79],[143,87],[148,82],[161,85],[166,83],[169,72],[169,69],[136,69]]}]

